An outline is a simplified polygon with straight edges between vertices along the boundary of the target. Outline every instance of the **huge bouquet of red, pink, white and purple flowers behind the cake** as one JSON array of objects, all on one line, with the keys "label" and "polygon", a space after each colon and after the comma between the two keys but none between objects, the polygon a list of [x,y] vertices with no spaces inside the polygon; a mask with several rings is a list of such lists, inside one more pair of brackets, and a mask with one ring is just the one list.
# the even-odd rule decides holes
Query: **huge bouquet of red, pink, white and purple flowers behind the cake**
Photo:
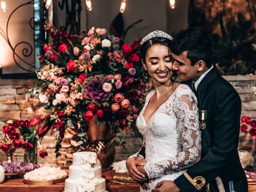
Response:
[{"label": "huge bouquet of red, pink, white and purple flowers behind the cake", "polygon": [[106,122],[108,138],[120,130],[133,130],[148,90],[142,82],[141,39],[128,45],[118,36],[106,36],[102,28],[82,31],[80,36],[70,36],[48,23],[45,29],[52,43],[45,44],[44,54],[38,57],[39,83],[27,98],[38,96],[40,102],[32,110],[47,119],[42,130],[54,132],[56,152],[64,136],[83,149],[92,120],[98,125]]}]

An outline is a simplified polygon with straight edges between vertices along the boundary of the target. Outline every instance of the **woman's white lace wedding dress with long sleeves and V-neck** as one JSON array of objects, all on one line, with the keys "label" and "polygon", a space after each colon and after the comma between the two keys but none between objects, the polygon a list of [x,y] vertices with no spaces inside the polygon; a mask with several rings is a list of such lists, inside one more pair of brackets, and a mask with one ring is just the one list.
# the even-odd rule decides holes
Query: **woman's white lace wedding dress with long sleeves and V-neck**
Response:
[{"label": "woman's white lace wedding dress with long sleeves and V-neck", "polygon": [[197,98],[192,90],[180,84],[146,124],[142,114],[154,93],[152,90],[146,96],[136,122],[146,144],[144,169],[152,179],[150,190],[140,188],[140,192],[151,191],[162,180],[176,179],[196,163],[201,154]]}]

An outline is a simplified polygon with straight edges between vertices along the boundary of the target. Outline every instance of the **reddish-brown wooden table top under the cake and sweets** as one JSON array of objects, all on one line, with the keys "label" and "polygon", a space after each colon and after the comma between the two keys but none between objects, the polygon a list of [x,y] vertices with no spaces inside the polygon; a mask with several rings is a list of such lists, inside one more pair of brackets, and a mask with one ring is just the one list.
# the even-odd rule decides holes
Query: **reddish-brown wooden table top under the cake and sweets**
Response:
[{"label": "reddish-brown wooden table top under the cake and sweets", "polygon": [[[102,173],[102,177],[111,180],[111,171]],[[63,192],[64,182],[52,185],[28,185],[22,182],[22,178],[5,180],[0,184],[0,192]],[[256,183],[249,184],[249,192],[256,192]],[[120,185],[115,183],[107,183],[106,190],[108,192],[139,192],[140,186],[136,183],[129,185]]]}]

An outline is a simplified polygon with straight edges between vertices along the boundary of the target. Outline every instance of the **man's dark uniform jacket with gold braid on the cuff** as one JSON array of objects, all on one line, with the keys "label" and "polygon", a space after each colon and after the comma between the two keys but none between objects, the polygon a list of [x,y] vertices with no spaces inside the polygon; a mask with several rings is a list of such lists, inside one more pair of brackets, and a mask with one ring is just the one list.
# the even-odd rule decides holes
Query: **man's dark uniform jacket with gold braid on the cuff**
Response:
[{"label": "man's dark uniform jacket with gold braid on the cuff", "polygon": [[[181,192],[218,192],[215,178],[220,176],[226,192],[233,181],[236,192],[247,192],[248,184],[238,156],[241,100],[216,66],[206,74],[196,90],[199,110],[207,113],[201,129],[201,160],[176,180]],[[140,155],[145,157],[142,148]]]}]

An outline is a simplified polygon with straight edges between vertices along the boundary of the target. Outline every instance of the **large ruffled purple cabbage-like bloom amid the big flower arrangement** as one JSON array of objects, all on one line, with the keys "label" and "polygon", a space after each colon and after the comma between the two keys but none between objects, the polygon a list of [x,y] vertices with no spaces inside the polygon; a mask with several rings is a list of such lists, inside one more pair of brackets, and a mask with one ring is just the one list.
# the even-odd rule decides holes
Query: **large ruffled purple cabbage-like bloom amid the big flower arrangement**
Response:
[{"label": "large ruffled purple cabbage-like bloom amid the big flower arrangement", "polygon": [[104,76],[96,75],[89,77],[84,81],[84,96],[90,100],[104,101],[108,99],[109,93],[102,88],[104,84]]}]

